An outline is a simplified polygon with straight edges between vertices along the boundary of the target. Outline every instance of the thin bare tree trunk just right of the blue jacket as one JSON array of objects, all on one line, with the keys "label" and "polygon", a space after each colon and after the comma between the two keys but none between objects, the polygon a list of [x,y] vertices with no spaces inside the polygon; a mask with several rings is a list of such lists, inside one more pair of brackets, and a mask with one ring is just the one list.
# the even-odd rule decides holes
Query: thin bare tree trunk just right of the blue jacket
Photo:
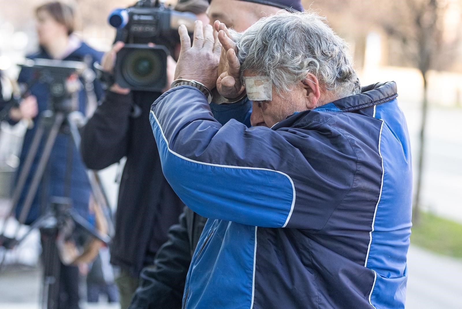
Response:
[{"label": "thin bare tree trunk just right of the blue jacket", "polygon": [[423,167],[425,159],[425,129],[427,123],[427,111],[428,111],[428,96],[427,96],[427,79],[426,72],[421,71],[424,79],[424,97],[422,102],[422,123],[420,127],[420,149],[419,149],[419,162],[417,166],[417,183],[415,188],[415,197],[413,203],[412,222],[413,224],[419,224],[420,222],[420,195],[422,189],[422,178],[423,178]]}]

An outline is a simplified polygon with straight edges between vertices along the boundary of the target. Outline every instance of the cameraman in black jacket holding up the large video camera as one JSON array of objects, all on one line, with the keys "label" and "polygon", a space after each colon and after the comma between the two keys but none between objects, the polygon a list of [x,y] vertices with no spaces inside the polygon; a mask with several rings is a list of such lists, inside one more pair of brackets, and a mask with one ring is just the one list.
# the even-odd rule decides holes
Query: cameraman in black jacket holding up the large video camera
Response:
[{"label": "cameraman in black jacket holding up the large video camera", "polygon": [[[175,9],[204,19],[207,6],[206,0],[183,0]],[[123,42],[116,42],[103,56],[104,71],[113,73],[116,54],[123,46]],[[179,47],[179,41],[172,46],[177,52]],[[173,81],[175,65],[169,56],[165,90]],[[116,284],[121,308],[126,309],[138,287],[141,269],[152,265],[184,204],[164,178],[157,145],[149,130],[151,104],[162,93],[130,91],[117,84],[108,90],[83,128],[81,153],[85,165],[95,170],[127,158],[120,182],[116,233],[110,247],[111,263],[120,267]]]}]

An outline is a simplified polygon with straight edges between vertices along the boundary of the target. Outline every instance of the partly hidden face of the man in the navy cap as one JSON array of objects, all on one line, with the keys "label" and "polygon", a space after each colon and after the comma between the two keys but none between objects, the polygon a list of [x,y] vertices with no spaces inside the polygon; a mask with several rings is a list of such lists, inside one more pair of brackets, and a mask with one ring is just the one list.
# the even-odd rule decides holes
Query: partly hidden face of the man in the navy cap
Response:
[{"label": "partly hidden face of the man in the navy cap", "polygon": [[242,32],[258,19],[274,14],[279,10],[274,6],[241,0],[213,0],[207,9],[207,15],[211,25],[218,19],[226,27]]}]

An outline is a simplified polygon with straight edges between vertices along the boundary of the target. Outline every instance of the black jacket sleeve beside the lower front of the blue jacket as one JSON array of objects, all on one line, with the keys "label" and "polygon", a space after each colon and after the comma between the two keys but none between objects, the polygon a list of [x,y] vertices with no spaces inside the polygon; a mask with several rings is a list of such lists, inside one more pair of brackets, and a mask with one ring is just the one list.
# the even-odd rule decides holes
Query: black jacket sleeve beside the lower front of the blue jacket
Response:
[{"label": "black jacket sleeve beside the lower front of the blue jacket", "polygon": [[180,309],[191,257],[207,218],[188,207],[180,222],[169,230],[169,240],[159,249],[155,264],[141,272],[140,287],[128,309]]}]

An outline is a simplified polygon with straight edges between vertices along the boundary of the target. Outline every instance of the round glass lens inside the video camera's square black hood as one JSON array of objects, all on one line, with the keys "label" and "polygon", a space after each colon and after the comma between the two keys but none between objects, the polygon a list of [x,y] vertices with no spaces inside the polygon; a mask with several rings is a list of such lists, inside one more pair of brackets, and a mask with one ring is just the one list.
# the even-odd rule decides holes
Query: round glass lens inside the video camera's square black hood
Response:
[{"label": "round glass lens inside the video camera's square black hood", "polygon": [[133,87],[152,86],[161,76],[164,65],[152,49],[134,49],[122,61],[122,75]]}]

